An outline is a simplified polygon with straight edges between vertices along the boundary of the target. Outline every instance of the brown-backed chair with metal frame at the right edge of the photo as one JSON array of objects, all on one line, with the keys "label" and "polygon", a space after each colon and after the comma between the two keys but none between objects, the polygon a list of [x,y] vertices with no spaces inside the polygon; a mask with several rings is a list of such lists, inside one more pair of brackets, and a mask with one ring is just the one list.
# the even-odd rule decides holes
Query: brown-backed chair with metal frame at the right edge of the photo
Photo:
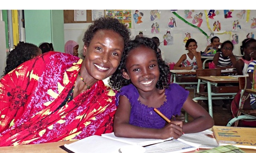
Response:
[{"label": "brown-backed chair with metal frame at the right edge of the photo", "polygon": [[227,126],[238,126],[239,120],[256,120],[256,115],[249,115],[243,110],[243,104],[244,101],[249,98],[248,94],[247,96],[244,95],[245,89],[252,88],[252,84],[250,83],[249,77],[239,77],[239,89],[240,89],[240,100],[239,100],[239,110],[237,112],[237,116],[235,116],[232,120],[230,120],[227,124]]}]

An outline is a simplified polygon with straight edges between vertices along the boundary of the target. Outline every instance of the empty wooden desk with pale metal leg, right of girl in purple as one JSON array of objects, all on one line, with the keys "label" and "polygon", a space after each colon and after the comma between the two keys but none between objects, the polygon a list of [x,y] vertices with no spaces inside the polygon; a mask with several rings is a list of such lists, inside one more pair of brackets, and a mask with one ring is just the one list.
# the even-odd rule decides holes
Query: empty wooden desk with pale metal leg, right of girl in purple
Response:
[{"label": "empty wooden desk with pale metal leg, right of girl in purple", "polygon": [[[218,76],[219,77],[219,76]],[[211,117],[213,117],[213,106],[212,106],[212,100],[213,99],[227,99],[227,98],[221,98],[223,95],[230,95],[234,97],[237,94],[236,92],[223,92],[223,93],[218,93],[218,92],[213,92],[211,90],[212,86],[217,86],[219,83],[238,83],[238,78],[234,78],[233,80],[230,79],[218,79],[214,77],[198,77],[198,79],[201,79],[202,82],[207,84],[207,89],[208,89],[208,107],[209,107],[209,114]],[[228,87],[229,88],[229,87]],[[230,88],[232,89],[232,88]],[[217,91],[217,90],[215,90]],[[213,98],[212,96],[219,96],[216,98]],[[230,98],[233,99],[233,98]]]}]

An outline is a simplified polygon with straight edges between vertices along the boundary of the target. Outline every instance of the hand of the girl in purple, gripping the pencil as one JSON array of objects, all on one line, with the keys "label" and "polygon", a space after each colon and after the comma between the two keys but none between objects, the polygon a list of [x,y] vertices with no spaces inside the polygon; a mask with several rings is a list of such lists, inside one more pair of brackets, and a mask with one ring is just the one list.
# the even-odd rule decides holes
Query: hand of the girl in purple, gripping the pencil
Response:
[{"label": "hand of the girl in purple, gripping the pencil", "polygon": [[161,129],[160,135],[161,139],[168,139],[169,137],[178,139],[183,135],[183,122],[171,121],[171,123],[165,125],[165,127]]}]

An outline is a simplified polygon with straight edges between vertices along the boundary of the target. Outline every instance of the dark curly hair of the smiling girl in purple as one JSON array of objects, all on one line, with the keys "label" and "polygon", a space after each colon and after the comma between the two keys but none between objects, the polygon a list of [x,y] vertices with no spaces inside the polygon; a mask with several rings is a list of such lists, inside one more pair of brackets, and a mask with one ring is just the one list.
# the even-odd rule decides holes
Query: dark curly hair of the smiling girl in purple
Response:
[{"label": "dark curly hair of the smiling girl in purple", "polygon": [[[164,89],[168,88],[169,82],[168,82],[168,75],[170,73],[169,66],[166,65],[163,60],[160,58],[160,53],[157,52],[157,45],[155,41],[151,38],[147,37],[138,37],[134,40],[130,40],[127,43],[127,47],[125,48],[124,54],[122,55],[121,62],[119,67],[117,68],[116,72],[111,76],[109,85],[111,88],[120,90],[122,86],[131,84],[130,80],[127,80],[122,77],[122,71],[127,72],[126,69],[126,59],[129,55],[130,51],[132,49],[135,49],[137,47],[145,46],[148,48],[151,48],[155,50],[157,62],[159,64],[159,71],[160,71],[160,77],[157,81],[156,88],[158,89]],[[146,57],[145,57],[146,58]]]}]

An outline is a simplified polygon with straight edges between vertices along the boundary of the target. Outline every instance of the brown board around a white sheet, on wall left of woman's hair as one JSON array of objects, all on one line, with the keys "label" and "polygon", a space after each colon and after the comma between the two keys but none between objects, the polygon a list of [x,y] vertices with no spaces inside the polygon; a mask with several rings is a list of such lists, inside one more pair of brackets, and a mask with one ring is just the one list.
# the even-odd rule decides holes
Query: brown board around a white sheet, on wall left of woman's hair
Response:
[{"label": "brown board around a white sheet, on wall left of woman's hair", "polygon": [[86,10],[86,21],[74,21],[74,10],[63,10],[64,23],[92,23],[92,11]]}]

